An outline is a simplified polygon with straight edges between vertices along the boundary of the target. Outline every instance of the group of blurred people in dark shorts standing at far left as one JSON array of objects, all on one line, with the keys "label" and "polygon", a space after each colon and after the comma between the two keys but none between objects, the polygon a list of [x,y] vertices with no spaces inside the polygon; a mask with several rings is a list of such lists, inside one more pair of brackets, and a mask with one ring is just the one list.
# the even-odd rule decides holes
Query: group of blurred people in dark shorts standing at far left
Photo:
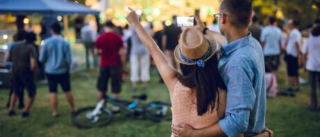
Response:
[{"label": "group of blurred people in dark shorts standing at far left", "polygon": [[[29,110],[35,100],[35,80],[42,80],[45,75],[49,86],[52,116],[58,116],[57,86],[61,84],[72,113],[76,110],[70,86],[70,64],[72,55],[70,44],[61,35],[61,24],[51,25],[51,37],[45,39],[41,46],[35,44],[35,33],[19,30],[16,42],[10,44],[6,55],[12,66],[12,87],[9,94],[9,116],[14,116],[15,102],[19,97],[19,109],[24,109],[22,117],[29,116]],[[37,73],[38,72],[38,73]],[[39,77],[40,76],[40,77]],[[28,91],[29,100],[24,106],[24,89]]]}]

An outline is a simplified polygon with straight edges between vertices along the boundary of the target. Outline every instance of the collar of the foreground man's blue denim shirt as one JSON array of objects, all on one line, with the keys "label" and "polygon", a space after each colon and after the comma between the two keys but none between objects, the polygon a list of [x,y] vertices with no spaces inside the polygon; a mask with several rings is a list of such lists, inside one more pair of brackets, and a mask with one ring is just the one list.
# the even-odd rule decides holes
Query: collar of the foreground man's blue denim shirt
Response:
[{"label": "collar of the foreground man's blue denim shirt", "polygon": [[241,39],[231,42],[230,44],[227,44],[227,41],[225,40],[221,48],[221,55],[229,55],[238,48],[248,45],[250,42],[250,37],[252,37],[251,33],[249,33],[246,37],[242,37]]}]

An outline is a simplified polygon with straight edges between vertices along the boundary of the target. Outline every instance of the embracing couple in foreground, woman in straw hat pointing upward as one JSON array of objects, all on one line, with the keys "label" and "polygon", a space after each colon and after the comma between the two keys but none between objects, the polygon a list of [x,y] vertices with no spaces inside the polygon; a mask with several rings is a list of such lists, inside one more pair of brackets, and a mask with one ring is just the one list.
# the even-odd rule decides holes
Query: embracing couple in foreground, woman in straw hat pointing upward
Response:
[{"label": "embracing couple in foreground, woman in straw hat pointing upward", "polygon": [[[273,136],[265,127],[262,48],[248,31],[250,0],[221,2],[215,17],[222,35],[195,16],[197,25],[182,32],[175,48],[182,73],[168,64],[135,11],[129,10],[127,21],[150,51],[170,92],[171,136]],[[223,45],[219,58],[216,42]]]}]

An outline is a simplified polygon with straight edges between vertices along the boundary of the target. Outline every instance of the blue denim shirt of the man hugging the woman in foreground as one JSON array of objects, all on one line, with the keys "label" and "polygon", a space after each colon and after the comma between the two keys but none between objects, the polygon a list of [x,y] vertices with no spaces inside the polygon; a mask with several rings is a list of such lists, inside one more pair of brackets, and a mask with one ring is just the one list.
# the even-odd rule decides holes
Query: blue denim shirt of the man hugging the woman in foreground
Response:
[{"label": "blue denim shirt of the man hugging the woman in foreground", "polygon": [[262,47],[249,34],[221,48],[219,71],[227,85],[225,118],[219,125],[227,136],[253,136],[265,128],[266,85]]}]

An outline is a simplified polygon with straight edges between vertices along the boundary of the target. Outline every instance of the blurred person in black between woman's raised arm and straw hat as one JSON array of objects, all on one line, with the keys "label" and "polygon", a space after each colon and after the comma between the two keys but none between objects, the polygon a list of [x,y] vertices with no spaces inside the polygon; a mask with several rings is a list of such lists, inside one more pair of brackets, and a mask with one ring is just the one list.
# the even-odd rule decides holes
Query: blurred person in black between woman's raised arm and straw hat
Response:
[{"label": "blurred person in black between woman's raised arm and straw hat", "polygon": [[170,26],[164,28],[162,47],[164,53],[169,61],[169,63],[177,70],[179,70],[179,65],[175,62],[175,57],[173,56],[173,51],[175,46],[179,43],[179,35],[182,32],[181,28],[177,26],[177,16],[173,16],[173,23]]}]

